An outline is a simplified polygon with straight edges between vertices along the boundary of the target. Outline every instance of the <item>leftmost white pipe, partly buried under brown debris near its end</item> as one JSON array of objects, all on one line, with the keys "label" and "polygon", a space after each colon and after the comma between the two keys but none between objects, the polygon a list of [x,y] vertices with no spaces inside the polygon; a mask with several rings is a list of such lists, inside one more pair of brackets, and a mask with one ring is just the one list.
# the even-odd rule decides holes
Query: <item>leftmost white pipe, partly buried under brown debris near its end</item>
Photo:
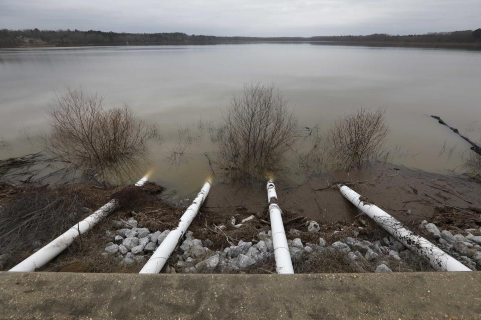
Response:
[{"label": "leftmost white pipe, partly buried under brown debris near its end", "polygon": [[[147,178],[143,177],[135,185],[142,186],[146,181]],[[9,271],[35,271],[36,268],[47,264],[50,260],[59,255],[70,244],[72,244],[75,238],[94,227],[102,218],[106,217],[113,210],[115,210],[118,205],[119,203],[116,199],[110,200],[108,203],[101,206],[97,211],[90,214],[82,221],[74,224],[70,229],[56,237],[50,243],[11,268]]]}]

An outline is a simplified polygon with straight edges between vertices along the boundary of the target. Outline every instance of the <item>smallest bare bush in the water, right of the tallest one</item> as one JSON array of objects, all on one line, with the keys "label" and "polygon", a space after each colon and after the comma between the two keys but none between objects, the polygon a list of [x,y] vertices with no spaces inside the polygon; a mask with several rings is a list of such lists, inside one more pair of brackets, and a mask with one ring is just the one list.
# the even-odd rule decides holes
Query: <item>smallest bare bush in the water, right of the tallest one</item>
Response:
[{"label": "smallest bare bush in the water, right of the tallest one", "polygon": [[358,109],[336,120],[327,134],[330,162],[338,168],[355,169],[385,156],[388,133],[384,109]]}]

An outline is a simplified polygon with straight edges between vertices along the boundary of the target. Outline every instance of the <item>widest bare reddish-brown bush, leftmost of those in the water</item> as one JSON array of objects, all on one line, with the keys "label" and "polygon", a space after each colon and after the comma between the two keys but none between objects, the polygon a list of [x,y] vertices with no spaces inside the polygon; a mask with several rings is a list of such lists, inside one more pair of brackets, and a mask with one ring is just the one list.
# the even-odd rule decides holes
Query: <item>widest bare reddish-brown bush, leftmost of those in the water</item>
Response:
[{"label": "widest bare reddish-brown bush, leftmost of those in the water", "polygon": [[160,139],[155,126],[137,118],[127,105],[103,108],[103,99],[68,89],[48,111],[51,132],[43,137],[48,151],[105,181],[138,175],[147,142]]}]

